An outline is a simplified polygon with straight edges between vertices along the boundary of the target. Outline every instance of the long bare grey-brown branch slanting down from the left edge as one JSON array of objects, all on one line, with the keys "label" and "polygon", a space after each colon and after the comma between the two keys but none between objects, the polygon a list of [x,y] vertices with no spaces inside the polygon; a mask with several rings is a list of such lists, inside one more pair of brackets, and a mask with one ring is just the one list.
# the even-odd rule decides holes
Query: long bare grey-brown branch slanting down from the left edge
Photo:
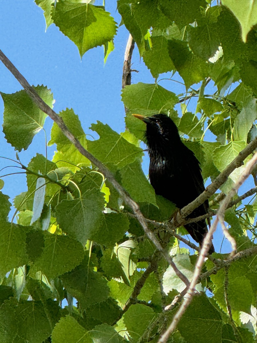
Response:
[{"label": "long bare grey-brown branch slanting down from the left edge", "polygon": [[10,72],[15,76],[15,78],[20,82],[26,93],[32,98],[32,100],[38,105],[38,107],[46,113],[54,122],[57,123],[58,127],[61,129],[62,133],[71,141],[72,144],[76,147],[76,149],[85,157],[89,159],[91,163],[93,163],[99,171],[108,178],[109,182],[113,185],[113,187],[118,191],[122,199],[130,206],[132,211],[134,212],[138,222],[142,226],[145,234],[147,237],[154,243],[156,248],[161,251],[162,255],[166,260],[170,263],[171,267],[174,269],[176,275],[186,284],[189,285],[189,281],[183,275],[178,268],[176,267],[175,263],[172,261],[169,254],[162,248],[161,244],[159,243],[158,239],[155,237],[154,233],[148,229],[147,224],[145,222],[145,218],[143,214],[140,212],[139,206],[137,203],[131,199],[129,194],[124,190],[124,188],[115,180],[114,176],[112,175],[111,171],[105,167],[97,158],[95,158],[90,152],[88,152],[78,141],[78,139],[71,133],[71,131],[66,127],[63,119],[58,116],[58,114],[51,109],[45,102],[40,98],[37,92],[30,86],[24,76],[14,67],[12,62],[3,54],[0,50],[0,60],[3,62],[5,67],[7,67]]}]

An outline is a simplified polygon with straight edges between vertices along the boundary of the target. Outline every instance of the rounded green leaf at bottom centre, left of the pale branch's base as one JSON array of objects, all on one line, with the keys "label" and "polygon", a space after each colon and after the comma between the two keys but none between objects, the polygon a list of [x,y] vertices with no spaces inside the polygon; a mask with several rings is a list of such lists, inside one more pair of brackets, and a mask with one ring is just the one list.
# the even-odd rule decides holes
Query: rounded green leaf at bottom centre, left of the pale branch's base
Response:
[{"label": "rounded green leaf at bottom centre, left of the pale branch's base", "polygon": [[124,324],[132,339],[138,340],[154,319],[154,310],[146,305],[131,305],[123,315]]}]

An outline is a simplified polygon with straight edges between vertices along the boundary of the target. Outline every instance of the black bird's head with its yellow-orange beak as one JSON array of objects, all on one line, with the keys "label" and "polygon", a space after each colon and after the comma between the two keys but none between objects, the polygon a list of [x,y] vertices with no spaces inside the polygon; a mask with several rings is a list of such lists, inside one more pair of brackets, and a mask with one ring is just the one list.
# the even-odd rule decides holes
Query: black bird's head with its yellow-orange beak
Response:
[{"label": "black bird's head with its yellow-orange beak", "polygon": [[133,116],[146,123],[145,138],[148,146],[158,142],[174,143],[177,139],[180,140],[178,128],[166,114],[155,114],[150,117],[139,114]]}]

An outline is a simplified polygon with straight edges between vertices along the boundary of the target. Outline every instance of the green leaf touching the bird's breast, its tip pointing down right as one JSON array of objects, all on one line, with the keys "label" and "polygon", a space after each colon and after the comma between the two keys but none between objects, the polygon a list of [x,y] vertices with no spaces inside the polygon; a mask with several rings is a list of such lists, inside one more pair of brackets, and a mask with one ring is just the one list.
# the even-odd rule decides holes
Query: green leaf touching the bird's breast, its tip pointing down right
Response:
[{"label": "green leaf touching the bird's breast, its tip pointing down right", "polygon": [[120,169],[121,182],[136,202],[149,202],[155,206],[155,191],[146,179],[141,164],[134,162]]}]

